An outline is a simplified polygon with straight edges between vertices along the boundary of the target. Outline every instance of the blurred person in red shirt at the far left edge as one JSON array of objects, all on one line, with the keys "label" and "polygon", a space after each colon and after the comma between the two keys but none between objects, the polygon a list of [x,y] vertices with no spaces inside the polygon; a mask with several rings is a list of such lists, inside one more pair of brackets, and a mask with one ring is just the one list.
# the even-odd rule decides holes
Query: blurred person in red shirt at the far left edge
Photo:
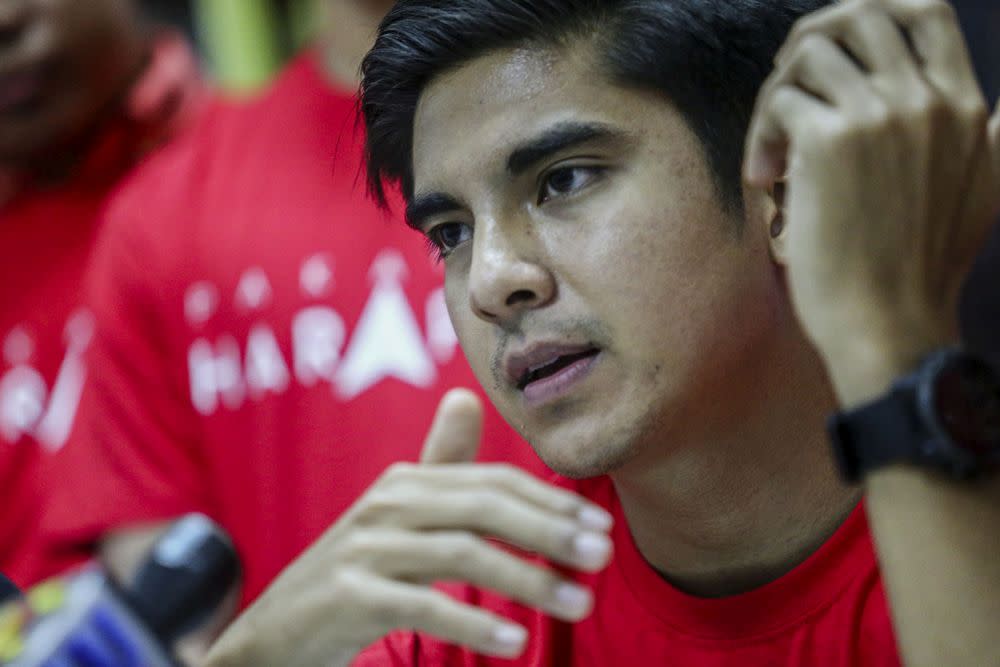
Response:
[{"label": "blurred person in red shirt at the far left edge", "polygon": [[84,382],[99,211],[203,98],[187,45],[129,0],[0,3],[0,572],[59,569],[37,528]]}]

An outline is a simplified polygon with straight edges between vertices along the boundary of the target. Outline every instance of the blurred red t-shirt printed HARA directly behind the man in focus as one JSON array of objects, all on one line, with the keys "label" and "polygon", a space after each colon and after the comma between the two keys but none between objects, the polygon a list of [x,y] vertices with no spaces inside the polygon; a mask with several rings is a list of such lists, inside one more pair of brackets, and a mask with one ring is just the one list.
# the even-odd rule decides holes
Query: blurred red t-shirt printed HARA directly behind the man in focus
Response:
[{"label": "blurred red t-shirt printed HARA directly behind the man in focus", "polygon": [[[355,99],[309,56],[214,109],[117,198],[56,545],[202,511],[249,602],[475,381],[417,234],[369,201]],[[492,411],[484,458],[543,470]]]}]

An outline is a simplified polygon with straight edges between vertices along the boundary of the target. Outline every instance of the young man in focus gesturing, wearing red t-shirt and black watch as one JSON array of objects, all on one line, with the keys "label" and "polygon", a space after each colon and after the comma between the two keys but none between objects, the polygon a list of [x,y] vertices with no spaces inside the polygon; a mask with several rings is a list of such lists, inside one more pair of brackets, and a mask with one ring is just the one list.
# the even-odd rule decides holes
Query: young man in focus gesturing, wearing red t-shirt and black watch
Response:
[{"label": "young man in focus gesturing, wearing red t-shirt and black watch", "polygon": [[450,397],[424,465],[208,664],[883,666],[897,638],[1000,663],[1000,381],[941,351],[1000,113],[988,138],[939,2],[803,19],[761,89],[822,4],[396,6],[364,70],[374,189],[401,184],[477,377],[568,479],[462,464],[477,407]]}]

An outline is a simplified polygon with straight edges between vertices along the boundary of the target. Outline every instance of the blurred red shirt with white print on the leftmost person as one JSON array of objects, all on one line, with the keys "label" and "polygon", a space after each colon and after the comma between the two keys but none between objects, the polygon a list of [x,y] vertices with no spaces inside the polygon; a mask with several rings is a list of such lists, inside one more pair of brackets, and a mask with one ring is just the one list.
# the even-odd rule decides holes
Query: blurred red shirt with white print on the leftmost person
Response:
[{"label": "blurred red shirt with white print on the leftmost person", "polygon": [[66,442],[93,320],[81,283],[113,186],[204,100],[194,58],[165,35],[124,107],[59,183],[0,172],[0,572],[21,586],[60,563],[40,551],[45,467]]}]

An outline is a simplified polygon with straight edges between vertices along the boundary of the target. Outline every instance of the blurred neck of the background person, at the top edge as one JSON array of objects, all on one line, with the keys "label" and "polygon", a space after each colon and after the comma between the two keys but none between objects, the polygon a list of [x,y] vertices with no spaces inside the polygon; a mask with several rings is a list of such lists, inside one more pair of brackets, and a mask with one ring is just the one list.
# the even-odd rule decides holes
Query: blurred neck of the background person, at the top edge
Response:
[{"label": "blurred neck of the background person, at the top edge", "polygon": [[360,82],[361,61],[392,3],[333,0],[321,4],[324,29],[319,46],[324,71],[334,85],[354,88]]}]

